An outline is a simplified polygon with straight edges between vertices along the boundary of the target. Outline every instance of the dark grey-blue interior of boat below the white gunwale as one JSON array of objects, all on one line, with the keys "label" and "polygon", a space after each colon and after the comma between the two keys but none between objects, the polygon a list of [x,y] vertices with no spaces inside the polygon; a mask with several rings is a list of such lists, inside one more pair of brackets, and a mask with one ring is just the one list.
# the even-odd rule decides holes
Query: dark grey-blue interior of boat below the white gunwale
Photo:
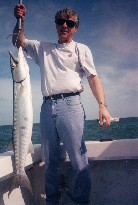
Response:
[{"label": "dark grey-blue interior of boat below the white gunwale", "polygon": [[[90,161],[90,167],[92,180],[90,205],[138,205],[138,160]],[[44,167],[35,165],[33,169],[27,171],[27,174],[33,184],[35,205],[45,205]],[[70,179],[73,177],[70,162],[64,164],[62,174],[70,185]],[[2,194],[8,191],[10,183],[11,180],[7,179],[1,184],[0,205],[15,205],[14,200],[13,203],[6,203],[2,198]],[[19,196],[19,202],[16,198],[18,202],[16,204],[24,205],[19,190],[10,197],[14,199],[15,194],[16,197]],[[74,205],[64,191],[60,204]]]}]

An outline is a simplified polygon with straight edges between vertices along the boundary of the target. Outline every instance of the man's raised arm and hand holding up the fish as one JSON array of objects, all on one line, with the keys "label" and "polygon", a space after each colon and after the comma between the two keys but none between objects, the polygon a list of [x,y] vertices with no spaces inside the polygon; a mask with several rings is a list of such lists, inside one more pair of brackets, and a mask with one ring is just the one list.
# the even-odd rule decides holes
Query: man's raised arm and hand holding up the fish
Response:
[{"label": "man's raised arm and hand holding up the fish", "polygon": [[[17,4],[14,8],[14,16],[17,19],[16,26],[13,30],[13,45],[19,48],[25,46],[25,34],[24,34],[24,19],[26,8],[24,5]],[[21,30],[19,30],[19,18],[21,18]]]}]

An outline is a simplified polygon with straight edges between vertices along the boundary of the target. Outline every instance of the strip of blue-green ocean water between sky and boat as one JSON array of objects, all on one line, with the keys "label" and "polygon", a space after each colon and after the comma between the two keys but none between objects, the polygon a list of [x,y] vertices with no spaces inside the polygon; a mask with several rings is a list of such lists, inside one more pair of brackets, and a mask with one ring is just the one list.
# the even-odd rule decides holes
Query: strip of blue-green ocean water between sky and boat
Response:
[{"label": "strip of blue-green ocean water between sky and boat", "polygon": [[[12,137],[12,127],[12,125],[0,126],[0,153],[7,150]],[[138,117],[120,118],[119,122],[112,122],[107,129],[102,128],[97,120],[86,120],[84,138],[85,141],[138,138]],[[33,125],[32,141],[34,144],[41,143],[39,123]]]}]

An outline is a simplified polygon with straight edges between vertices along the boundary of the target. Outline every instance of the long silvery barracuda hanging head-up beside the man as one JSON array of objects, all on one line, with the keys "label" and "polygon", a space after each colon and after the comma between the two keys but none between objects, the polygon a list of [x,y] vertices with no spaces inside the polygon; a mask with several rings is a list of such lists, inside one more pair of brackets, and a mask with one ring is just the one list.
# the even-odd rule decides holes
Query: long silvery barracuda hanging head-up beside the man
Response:
[{"label": "long silvery barracuda hanging head-up beside the man", "polygon": [[22,47],[18,48],[17,58],[9,52],[10,66],[13,79],[13,150],[15,172],[11,192],[20,187],[30,195],[32,193],[31,183],[25,172],[25,161],[27,154],[33,152],[31,141],[33,127],[33,106],[30,83],[30,72]]}]

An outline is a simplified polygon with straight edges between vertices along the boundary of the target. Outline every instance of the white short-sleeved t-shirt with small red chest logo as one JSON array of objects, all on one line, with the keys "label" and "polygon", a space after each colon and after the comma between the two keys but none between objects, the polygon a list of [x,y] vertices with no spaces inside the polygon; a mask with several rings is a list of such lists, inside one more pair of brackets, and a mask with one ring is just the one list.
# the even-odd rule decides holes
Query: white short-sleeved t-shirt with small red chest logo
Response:
[{"label": "white short-sleeved t-shirt with small red chest logo", "polygon": [[[25,40],[25,50],[39,66],[43,96],[82,91],[81,79],[97,75],[90,49],[80,43]],[[80,65],[81,64],[81,65]]]}]

